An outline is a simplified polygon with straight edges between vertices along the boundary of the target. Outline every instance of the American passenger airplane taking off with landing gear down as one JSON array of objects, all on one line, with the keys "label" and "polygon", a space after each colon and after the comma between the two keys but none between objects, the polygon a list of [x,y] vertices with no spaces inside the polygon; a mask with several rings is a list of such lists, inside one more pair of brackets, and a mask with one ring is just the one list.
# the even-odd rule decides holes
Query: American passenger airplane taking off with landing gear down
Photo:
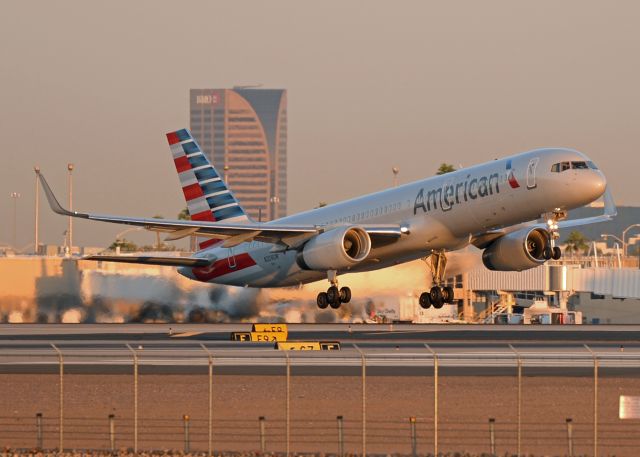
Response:
[{"label": "American passenger airplane taking off with landing gear down", "polygon": [[[52,210],[70,217],[144,227],[166,240],[197,236],[191,257],[94,255],[88,260],[169,265],[196,281],[287,287],[326,278],[321,309],[351,300],[338,276],[416,259],[433,286],[423,308],[454,303],[445,286],[447,252],[481,249],[490,270],[522,271],[560,259],[559,229],[607,221],[616,208],[607,181],[581,152],[544,148],[327,205],[269,222],[251,220],[187,129],[167,140],[191,220],[146,219],[68,211],[39,174]],[[567,212],[604,197],[602,215]]]}]

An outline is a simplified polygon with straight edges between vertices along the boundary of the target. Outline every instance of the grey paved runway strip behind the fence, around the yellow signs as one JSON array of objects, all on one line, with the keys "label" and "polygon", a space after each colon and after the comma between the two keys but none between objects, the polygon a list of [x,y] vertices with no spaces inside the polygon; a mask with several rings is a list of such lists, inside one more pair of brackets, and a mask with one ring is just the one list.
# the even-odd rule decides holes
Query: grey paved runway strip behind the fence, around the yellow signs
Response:
[{"label": "grey paved runway strip behind the fence, around the yellow signs", "polygon": [[[338,341],[340,351],[278,351],[273,343],[231,341],[251,324],[2,325],[0,371],[129,372],[135,354],[148,372],[199,373],[209,357],[219,374],[425,375],[439,366],[456,374],[640,372],[640,326],[289,325],[290,341]],[[54,348],[55,346],[55,348]]]}]

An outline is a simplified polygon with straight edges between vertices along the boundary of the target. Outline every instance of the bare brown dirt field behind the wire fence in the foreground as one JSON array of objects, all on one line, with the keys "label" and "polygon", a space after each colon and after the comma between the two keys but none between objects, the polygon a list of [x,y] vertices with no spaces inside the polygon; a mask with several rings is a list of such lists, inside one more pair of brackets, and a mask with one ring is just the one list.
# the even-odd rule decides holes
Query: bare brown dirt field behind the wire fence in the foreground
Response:
[{"label": "bare brown dirt field behind the wire fence in the foreground", "polygon": [[[410,453],[409,417],[417,417],[417,448],[433,451],[433,378],[368,376],[367,452]],[[640,455],[640,421],[618,419],[620,395],[640,395],[640,379],[599,380],[600,455]],[[344,417],[345,452],[361,452],[362,390],[356,376],[297,376],[291,380],[291,450],[338,450],[336,416]],[[183,415],[189,415],[191,450],[207,449],[206,375],[140,375],[139,448],[183,449]],[[133,378],[122,374],[65,376],[64,445],[109,447],[108,415],[115,415],[116,446],[133,442]],[[0,374],[0,445],[36,445],[36,413],[43,414],[43,445],[58,444],[58,376]],[[496,452],[516,450],[515,377],[442,376],[439,384],[440,451],[488,452],[489,418]],[[286,381],[281,376],[214,378],[216,450],[259,450],[259,416],[265,416],[267,451],[285,449]],[[566,418],[573,420],[576,455],[593,453],[593,379],[523,378],[522,451],[567,453]]]}]

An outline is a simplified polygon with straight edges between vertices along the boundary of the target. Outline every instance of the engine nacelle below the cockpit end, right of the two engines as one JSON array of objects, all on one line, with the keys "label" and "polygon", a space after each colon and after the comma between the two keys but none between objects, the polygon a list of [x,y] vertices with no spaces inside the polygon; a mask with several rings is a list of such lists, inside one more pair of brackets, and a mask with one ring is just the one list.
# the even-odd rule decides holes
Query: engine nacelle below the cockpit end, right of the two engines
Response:
[{"label": "engine nacelle below the cockpit end, right of the two engines", "polygon": [[482,262],[494,271],[528,270],[545,262],[544,252],[549,247],[546,230],[518,230],[491,243],[482,253]]}]

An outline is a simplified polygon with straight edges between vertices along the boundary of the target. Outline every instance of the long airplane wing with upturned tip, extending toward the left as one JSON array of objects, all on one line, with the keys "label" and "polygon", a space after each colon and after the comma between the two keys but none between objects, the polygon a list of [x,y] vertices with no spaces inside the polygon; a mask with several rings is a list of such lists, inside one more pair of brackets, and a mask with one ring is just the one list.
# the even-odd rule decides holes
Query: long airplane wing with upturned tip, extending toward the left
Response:
[{"label": "long airplane wing with upturned tip, extending toward the left", "polygon": [[[93,221],[144,227],[147,230],[168,233],[168,240],[177,240],[187,236],[196,235],[207,238],[224,239],[222,247],[233,247],[246,241],[258,240],[266,243],[281,244],[285,248],[295,248],[313,236],[322,233],[326,229],[323,226],[315,225],[277,225],[252,222],[223,223],[179,219],[147,219],[69,211],[60,205],[44,175],[40,173],[38,177],[49,202],[49,206],[51,206],[51,209],[57,214]],[[372,242],[379,239],[393,240],[399,238],[403,233],[408,233],[399,225],[363,225],[363,228],[371,235]],[[106,260],[102,256],[100,258]]]}]

